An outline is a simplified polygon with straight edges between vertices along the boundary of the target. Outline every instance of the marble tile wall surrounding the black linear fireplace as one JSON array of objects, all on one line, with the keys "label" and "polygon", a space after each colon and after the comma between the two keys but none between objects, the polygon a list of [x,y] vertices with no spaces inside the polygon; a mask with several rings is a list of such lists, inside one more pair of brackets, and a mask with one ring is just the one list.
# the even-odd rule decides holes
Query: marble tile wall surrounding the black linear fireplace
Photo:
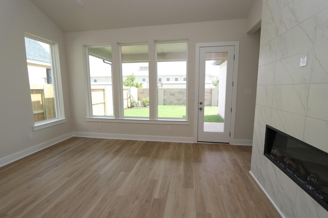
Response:
[{"label": "marble tile wall surrounding the black linear fireplace", "polygon": [[328,217],[264,157],[267,124],[328,152],[327,0],[263,0],[251,172],[285,217]]}]

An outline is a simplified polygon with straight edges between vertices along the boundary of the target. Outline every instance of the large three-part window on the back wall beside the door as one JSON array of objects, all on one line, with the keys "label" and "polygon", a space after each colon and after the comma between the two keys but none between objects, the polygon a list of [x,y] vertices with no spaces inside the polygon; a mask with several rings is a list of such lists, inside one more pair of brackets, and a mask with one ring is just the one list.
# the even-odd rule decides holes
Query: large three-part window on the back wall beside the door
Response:
[{"label": "large three-part window on the back wall beside the door", "polygon": [[88,120],[187,120],[187,41],[125,43],[115,49],[87,46]]}]

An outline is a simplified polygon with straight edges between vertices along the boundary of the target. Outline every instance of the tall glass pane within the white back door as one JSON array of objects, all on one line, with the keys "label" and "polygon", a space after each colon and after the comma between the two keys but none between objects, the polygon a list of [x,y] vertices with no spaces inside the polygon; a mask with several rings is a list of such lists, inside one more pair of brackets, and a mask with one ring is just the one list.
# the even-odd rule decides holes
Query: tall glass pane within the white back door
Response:
[{"label": "tall glass pane within the white back door", "polygon": [[224,131],[227,52],[206,53],[204,132]]}]

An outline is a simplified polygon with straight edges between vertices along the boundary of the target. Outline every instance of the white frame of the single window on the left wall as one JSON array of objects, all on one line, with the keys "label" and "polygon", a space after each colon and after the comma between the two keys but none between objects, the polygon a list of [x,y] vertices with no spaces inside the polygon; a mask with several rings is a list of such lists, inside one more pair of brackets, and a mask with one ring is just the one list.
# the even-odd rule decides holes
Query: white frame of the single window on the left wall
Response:
[{"label": "white frame of the single window on the left wall", "polygon": [[[52,83],[53,83],[53,87],[54,87],[55,108],[56,108],[56,114],[57,114],[56,118],[34,122],[33,131],[37,131],[37,130],[45,129],[45,128],[52,127],[55,125],[66,123],[67,119],[65,118],[65,110],[64,110],[63,86],[61,85],[58,43],[47,40],[47,39],[43,39],[40,37],[32,36],[27,33],[24,34],[24,38],[25,37],[49,44],[49,46],[50,46],[50,53],[51,53],[50,54],[50,64],[51,64],[51,70],[52,70],[52,75],[53,75]],[[28,64],[26,63],[26,67],[27,66],[28,66]],[[31,102],[32,102],[32,100],[31,100]]]}]

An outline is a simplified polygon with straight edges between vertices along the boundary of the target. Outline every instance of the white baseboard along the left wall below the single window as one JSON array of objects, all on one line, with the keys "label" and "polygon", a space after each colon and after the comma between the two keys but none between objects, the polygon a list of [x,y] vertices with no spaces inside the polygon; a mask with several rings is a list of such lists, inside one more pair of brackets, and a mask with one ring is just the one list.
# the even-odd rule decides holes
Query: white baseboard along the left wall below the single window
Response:
[{"label": "white baseboard along the left wall below the single window", "polygon": [[4,166],[4,165],[7,165],[11,162],[14,162],[16,160],[19,160],[19,159],[22,159],[26,156],[29,156],[35,152],[38,152],[38,151],[41,151],[43,149],[46,149],[50,146],[53,146],[54,144],[60,142],[60,141],[64,141],[68,138],[71,138],[73,136],[72,133],[68,133],[68,134],[65,134],[65,135],[61,135],[59,137],[56,137],[56,138],[53,138],[53,139],[50,139],[48,141],[45,141],[45,142],[42,142],[40,144],[37,144],[36,146],[33,146],[31,148],[28,148],[28,149],[25,149],[23,151],[20,151],[20,152],[17,152],[15,154],[12,154],[12,155],[9,155],[7,157],[4,157],[4,158],[1,158],[0,159],[0,167],[1,166]]}]

